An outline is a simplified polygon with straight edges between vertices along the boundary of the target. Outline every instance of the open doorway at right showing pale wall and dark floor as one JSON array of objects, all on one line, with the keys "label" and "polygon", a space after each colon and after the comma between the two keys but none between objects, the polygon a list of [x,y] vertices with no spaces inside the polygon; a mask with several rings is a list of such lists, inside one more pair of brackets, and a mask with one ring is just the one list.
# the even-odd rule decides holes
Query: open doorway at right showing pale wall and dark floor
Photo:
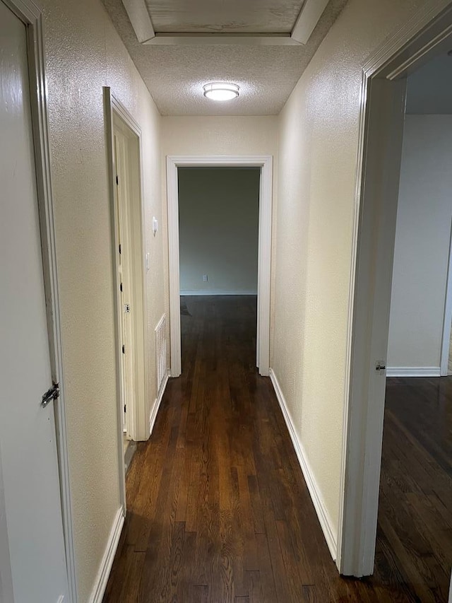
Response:
[{"label": "open doorway at right showing pale wall and dark floor", "polygon": [[442,368],[451,322],[451,78],[446,52],[407,78],[376,535],[376,565],[391,563],[388,547],[398,551],[400,590],[422,601],[446,601],[452,566],[452,379]]}]

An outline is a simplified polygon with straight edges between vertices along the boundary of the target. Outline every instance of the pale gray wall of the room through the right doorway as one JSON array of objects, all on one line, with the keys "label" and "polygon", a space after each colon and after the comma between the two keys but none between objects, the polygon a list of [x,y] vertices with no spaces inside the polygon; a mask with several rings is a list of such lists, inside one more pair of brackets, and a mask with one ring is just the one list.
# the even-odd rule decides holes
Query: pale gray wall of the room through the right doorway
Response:
[{"label": "pale gray wall of the room through the right doorway", "polygon": [[441,363],[452,219],[452,115],[406,115],[388,367]]}]

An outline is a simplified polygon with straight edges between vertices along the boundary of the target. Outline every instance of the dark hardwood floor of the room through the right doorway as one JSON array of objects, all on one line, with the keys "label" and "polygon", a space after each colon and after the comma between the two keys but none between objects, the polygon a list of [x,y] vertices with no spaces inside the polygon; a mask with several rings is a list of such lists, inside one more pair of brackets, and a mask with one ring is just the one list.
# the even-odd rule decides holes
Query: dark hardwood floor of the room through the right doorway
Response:
[{"label": "dark hardwood floor of the room through the right doorway", "polygon": [[415,601],[447,602],[451,566],[452,377],[392,377],[376,570]]}]

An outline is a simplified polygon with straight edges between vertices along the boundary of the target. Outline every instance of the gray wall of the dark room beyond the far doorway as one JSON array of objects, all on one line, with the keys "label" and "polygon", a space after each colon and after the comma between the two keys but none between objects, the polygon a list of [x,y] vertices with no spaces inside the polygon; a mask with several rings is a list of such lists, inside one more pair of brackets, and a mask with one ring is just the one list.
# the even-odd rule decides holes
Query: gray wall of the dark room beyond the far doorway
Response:
[{"label": "gray wall of the dark room beyond the far doorway", "polygon": [[260,169],[178,175],[181,294],[256,294]]}]

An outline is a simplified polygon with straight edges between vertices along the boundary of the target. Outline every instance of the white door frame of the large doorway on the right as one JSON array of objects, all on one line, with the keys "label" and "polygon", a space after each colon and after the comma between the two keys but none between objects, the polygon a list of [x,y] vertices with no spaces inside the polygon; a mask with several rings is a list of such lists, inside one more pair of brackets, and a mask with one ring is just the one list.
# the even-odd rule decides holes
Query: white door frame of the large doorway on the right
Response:
[{"label": "white door frame of the large doorway on the right", "polygon": [[386,385],[376,365],[386,365],[388,346],[405,78],[448,49],[451,33],[451,1],[429,1],[362,74],[338,530],[343,575],[374,571]]}]

